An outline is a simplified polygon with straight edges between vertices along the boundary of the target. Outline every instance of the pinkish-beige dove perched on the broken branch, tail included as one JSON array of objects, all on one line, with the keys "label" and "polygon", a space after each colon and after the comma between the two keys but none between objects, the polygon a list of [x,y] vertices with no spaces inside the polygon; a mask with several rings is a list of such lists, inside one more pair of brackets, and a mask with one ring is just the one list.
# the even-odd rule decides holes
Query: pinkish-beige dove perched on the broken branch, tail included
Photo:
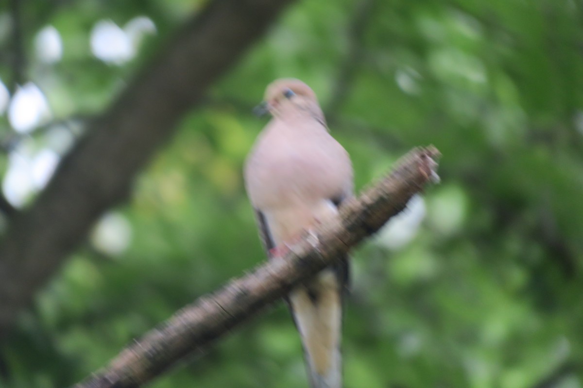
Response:
[{"label": "pinkish-beige dove perched on the broken branch, tail included", "polygon": [[[265,90],[258,113],[271,120],[245,160],[244,180],[268,257],[285,253],[305,232],[338,217],[353,197],[353,168],[331,136],[318,99],[297,79],[278,79]],[[342,387],[343,300],[349,258],[325,268],[286,297],[300,333],[312,388]]]}]

